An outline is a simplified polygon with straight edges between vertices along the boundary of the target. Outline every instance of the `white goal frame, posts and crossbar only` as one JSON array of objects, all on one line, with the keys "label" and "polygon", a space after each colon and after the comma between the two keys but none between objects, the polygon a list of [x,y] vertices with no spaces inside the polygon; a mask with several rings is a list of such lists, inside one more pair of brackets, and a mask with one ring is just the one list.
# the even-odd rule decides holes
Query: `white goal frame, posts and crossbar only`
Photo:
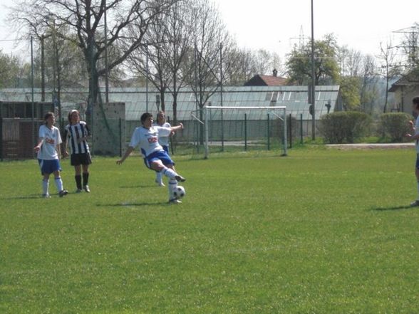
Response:
[{"label": "white goal frame, posts and crossbar only", "polygon": [[[215,110],[215,109],[230,109],[230,110],[266,110],[268,113],[272,113],[280,120],[284,121],[284,146],[283,146],[283,156],[287,155],[286,146],[287,138],[286,138],[286,106],[248,106],[248,107],[239,107],[239,106],[204,106],[204,115],[205,115],[205,159],[209,157],[209,148],[208,148],[208,110]],[[281,110],[282,115],[276,115],[274,110]]]}]

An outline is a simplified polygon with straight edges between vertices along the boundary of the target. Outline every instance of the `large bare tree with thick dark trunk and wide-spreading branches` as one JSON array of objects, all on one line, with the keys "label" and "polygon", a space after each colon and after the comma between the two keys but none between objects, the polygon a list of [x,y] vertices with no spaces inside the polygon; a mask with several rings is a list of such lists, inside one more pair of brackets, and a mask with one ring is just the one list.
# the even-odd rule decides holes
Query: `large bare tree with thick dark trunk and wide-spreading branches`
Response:
[{"label": "large bare tree with thick dark trunk and wide-spreading branches", "polygon": [[[75,43],[83,51],[89,74],[89,108],[98,102],[99,78],[117,67],[143,43],[148,26],[177,0],[17,0],[10,21],[26,34],[45,33],[54,23],[66,26],[68,33],[57,36]],[[104,36],[104,17],[108,16],[108,33]],[[138,23],[138,33],[128,34],[127,26]],[[135,35],[133,37],[133,35]],[[122,47],[112,50],[113,47]],[[115,53],[107,66],[100,58]],[[99,67],[100,66],[100,67]]]}]

